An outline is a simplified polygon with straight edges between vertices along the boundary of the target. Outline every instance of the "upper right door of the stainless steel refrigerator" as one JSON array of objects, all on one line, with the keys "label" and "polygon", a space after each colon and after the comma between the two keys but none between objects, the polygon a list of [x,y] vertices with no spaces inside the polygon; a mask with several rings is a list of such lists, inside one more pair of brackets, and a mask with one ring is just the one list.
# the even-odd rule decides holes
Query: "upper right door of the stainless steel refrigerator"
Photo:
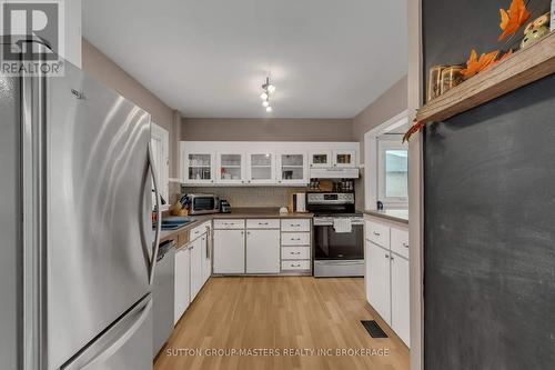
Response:
[{"label": "upper right door of the stainless steel refrigerator", "polygon": [[151,289],[150,116],[65,68],[46,94],[49,369]]}]

